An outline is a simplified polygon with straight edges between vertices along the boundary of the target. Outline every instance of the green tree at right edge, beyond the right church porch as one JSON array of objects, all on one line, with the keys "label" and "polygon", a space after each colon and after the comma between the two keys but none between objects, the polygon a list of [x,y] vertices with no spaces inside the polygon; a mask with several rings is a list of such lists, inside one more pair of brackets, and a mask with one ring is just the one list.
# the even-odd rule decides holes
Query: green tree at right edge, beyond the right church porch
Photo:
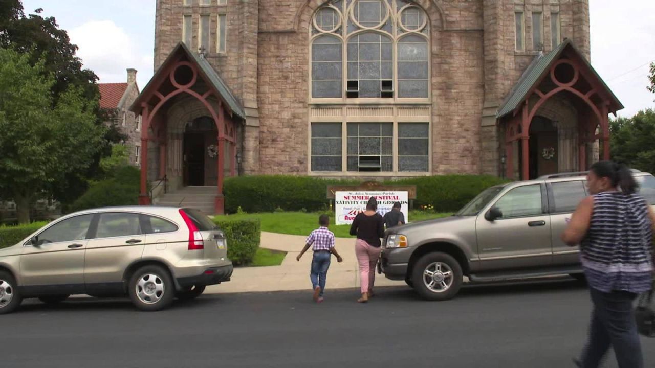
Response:
[{"label": "green tree at right edge, beyond the right church porch", "polygon": [[610,122],[610,155],[642,171],[655,173],[655,110]]}]

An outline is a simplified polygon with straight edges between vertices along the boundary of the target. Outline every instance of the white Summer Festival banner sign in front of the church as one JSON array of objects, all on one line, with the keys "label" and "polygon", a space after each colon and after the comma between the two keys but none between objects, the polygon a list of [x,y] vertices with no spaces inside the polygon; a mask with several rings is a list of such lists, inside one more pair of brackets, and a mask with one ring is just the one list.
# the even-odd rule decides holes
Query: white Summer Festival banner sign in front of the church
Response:
[{"label": "white Summer Festival banner sign in front of the church", "polygon": [[409,200],[407,192],[337,192],[335,193],[335,213],[337,225],[350,225],[355,216],[366,210],[369,198],[377,199],[377,212],[384,216],[384,213],[391,211],[395,202],[400,202],[401,212],[405,215],[405,223],[409,221]]}]

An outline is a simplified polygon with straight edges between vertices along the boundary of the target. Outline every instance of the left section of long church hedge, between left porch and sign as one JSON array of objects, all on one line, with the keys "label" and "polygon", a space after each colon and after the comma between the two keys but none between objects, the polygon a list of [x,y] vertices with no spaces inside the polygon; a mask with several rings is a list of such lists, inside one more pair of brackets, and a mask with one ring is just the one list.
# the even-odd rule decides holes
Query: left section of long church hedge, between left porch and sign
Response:
[{"label": "left section of long church hedge, between left porch and sign", "polygon": [[327,207],[327,185],[357,183],[290,175],[230,177],[223,185],[225,211],[236,213],[239,207],[245,212],[320,211]]}]

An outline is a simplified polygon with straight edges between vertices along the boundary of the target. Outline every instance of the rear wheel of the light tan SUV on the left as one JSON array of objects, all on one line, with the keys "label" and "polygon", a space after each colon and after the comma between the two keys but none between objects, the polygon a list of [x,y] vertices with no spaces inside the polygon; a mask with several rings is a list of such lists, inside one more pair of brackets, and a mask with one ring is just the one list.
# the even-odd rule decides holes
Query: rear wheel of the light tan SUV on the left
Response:
[{"label": "rear wheel of the light tan SUV on the left", "polygon": [[162,310],[173,302],[175,286],[166,270],[160,266],[144,266],[136,270],[128,284],[130,300],[144,312]]}]

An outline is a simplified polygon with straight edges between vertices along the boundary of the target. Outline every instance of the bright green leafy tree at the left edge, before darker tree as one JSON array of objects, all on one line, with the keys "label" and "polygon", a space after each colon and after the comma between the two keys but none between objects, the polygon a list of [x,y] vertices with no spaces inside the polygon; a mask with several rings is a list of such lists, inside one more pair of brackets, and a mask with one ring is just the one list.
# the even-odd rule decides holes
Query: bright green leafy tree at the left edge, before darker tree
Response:
[{"label": "bright green leafy tree at the left edge, before darker tree", "polygon": [[75,86],[54,101],[54,77],[31,54],[0,48],[0,183],[16,202],[18,222],[52,183],[84,172],[98,153],[105,126],[97,102]]}]

